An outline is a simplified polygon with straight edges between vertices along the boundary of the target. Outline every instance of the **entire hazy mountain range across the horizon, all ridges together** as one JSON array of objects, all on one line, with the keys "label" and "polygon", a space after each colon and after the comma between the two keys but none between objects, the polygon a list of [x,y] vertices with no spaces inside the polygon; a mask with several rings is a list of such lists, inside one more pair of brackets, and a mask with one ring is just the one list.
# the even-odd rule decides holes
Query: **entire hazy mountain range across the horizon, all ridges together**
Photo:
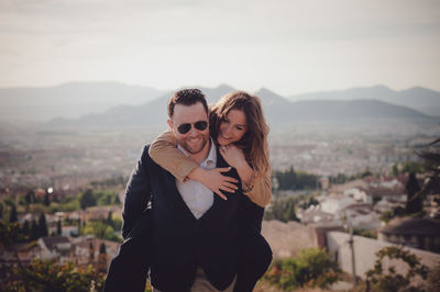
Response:
[{"label": "entire hazy mountain range across the horizon, all ridges together", "polygon": [[[228,85],[200,89],[209,103],[237,90]],[[156,125],[167,119],[166,104],[170,94],[172,91],[117,82],[72,82],[53,88],[0,89],[0,120],[18,120],[18,115],[21,115],[28,120],[46,120],[46,125],[56,127]],[[254,94],[261,98],[272,125],[369,120],[437,123],[439,119],[433,116],[440,116],[440,92],[419,87],[393,91],[376,86],[290,98],[262,88]]]}]

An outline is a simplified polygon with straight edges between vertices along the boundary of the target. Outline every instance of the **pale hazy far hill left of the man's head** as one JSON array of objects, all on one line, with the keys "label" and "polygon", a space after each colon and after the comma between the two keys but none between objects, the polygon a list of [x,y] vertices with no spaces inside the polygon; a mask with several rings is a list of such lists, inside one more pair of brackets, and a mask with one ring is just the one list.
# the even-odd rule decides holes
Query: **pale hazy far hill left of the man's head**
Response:
[{"label": "pale hazy far hill left of the man's head", "polygon": [[164,94],[150,87],[119,82],[68,82],[45,88],[0,88],[0,121],[79,117],[118,104],[141,104]]}]

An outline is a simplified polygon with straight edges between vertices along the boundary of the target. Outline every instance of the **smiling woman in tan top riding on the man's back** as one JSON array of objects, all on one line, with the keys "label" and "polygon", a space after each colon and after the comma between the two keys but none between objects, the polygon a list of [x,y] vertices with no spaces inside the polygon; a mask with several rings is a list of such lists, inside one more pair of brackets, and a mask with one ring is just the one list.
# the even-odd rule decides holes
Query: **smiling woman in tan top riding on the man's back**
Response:
[{"label": "smiling woman in tan top riding on the man's back", "polygon": [[[241,203],[241,258],[234,291],[252,291],[266,271],[272,251],[261,236],[264,206],[271,202],[271,168],[268,160],[268,126],[258,98],[246,92],[232,92],[212,105],[209,113],[210,135],[224,160],[234,167],[245,196]],[[150,156],[176,179],[195,179],[221,198],[221,190],[237,187],[221,172],[206,170],[176,148],[176,139],[165,132],[150,147]]]}]

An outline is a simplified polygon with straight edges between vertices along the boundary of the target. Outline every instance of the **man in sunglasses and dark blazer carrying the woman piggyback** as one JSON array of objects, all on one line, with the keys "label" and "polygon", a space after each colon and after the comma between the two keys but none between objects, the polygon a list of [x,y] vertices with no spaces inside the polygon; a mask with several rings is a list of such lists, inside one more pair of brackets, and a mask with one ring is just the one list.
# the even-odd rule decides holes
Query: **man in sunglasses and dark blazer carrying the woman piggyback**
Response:
[{"label": "man in sunglasses and dark blazer carrying the woman piggyback", "polygon": [[[206,168],[228,167],[209,137],[208,105],[198,89],[177,91],[168,125],[178,148]],[[239,176],[234,169],[226,176]],[[143,150],[125,191],[122,234],[106,291],[232,291],[238,266],[241,183],[228,200],[197,181],[175,178]],[[146,206],[150,204],[150,209]],[[154,231],[154,232],[153,232]]]}]

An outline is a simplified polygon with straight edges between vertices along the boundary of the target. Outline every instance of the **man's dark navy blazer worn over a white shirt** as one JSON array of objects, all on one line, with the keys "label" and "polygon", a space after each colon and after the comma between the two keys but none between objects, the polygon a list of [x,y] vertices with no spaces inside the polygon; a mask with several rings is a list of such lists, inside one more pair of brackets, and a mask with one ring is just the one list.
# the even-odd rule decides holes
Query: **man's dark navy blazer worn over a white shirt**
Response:
[{"label": "man's dark navy blazer worn over a white shirt", "polygon": [[[217,154],[217,167],[228,167]],[[226,173],[240,180],[237,170]],[[239,183],[241,186],[241,183]],[[239,201],[242,190],[215,194],[213,205],[196,220],[176,188],[175,178],[156,165],[144,147],[125,191],[122,234],[124,238],[151,206],[151,227],[145,248],[151,249],[151,280],[161,291],[188,291],[197,267],[218,290],[227,289],[237,274],[239,258]]]}]

